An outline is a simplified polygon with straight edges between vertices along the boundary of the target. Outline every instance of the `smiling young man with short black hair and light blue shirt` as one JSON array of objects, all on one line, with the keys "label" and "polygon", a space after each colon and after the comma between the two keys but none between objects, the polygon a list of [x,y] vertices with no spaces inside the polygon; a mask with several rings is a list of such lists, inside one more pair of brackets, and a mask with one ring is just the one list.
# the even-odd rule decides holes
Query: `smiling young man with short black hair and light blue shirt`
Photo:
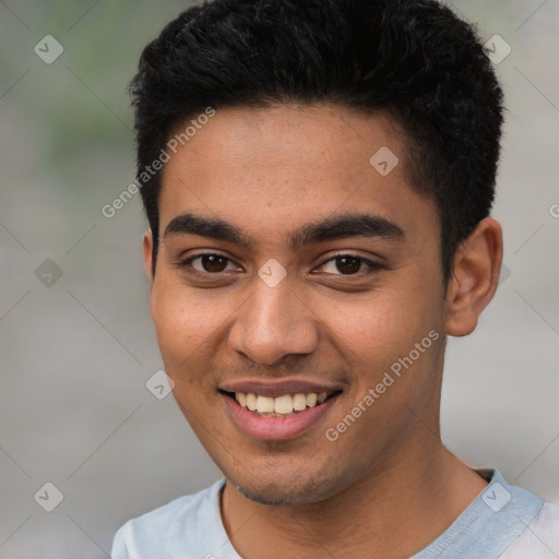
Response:
[{"label": "smiling young man with short black hair and light blue shirt", "polygon": [[225,479],[112,557],[558,557],[558,508],[440,439],[445,338],[502,259],[502,93],[471,26],[432,0],[215,0],[131,93],[157,340]]}]

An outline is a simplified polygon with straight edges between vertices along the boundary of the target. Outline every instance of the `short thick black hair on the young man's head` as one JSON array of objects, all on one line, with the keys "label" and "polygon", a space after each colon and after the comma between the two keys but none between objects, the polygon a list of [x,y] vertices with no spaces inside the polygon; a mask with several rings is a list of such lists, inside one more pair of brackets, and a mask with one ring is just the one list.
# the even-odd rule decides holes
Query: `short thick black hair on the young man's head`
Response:
[{"label": "short thick black hair on the young man's head", "polygon": [[[129,91],[139,177],[209,107],[389,111],[405,132],[413,188],[437,205],[443,282],[491,210],[502,91],[475,27],[436,0],[204,1],[145,47]],[[160,177],[141,186],[153,273]]]}]

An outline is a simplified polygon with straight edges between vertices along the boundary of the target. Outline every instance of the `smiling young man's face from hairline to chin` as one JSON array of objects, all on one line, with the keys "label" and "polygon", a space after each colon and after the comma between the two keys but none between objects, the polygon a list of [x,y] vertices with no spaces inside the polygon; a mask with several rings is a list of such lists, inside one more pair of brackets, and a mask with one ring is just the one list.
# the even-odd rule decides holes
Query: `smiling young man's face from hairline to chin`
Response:
[{"label": "smiling young man's face from hairline to chin", "polygon": [[254,501],[335,496],[437,429],[439,221],[403,142],[382,114],[227,108],[166,163],[158,344],[183,415]]}]

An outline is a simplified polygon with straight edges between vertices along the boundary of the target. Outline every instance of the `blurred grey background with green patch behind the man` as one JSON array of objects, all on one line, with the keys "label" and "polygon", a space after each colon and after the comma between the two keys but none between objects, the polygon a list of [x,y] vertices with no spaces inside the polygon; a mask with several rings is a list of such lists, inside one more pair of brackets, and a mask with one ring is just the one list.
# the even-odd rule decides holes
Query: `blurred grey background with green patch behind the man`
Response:
[{"label": "blurred grey background with green patch behind the man", "polygon": [[[140,198],[102,214],[134,179],[126,85],[189,5],[0,1],[2,559],[106,558],[126,520],[219,477],[173,396],[145,385],[163,365]],[[559,500],[559,0],[452,5],[512,50],[489,43],[509,109],[506,269],[476,332],[450,340],[443,438]]]}]

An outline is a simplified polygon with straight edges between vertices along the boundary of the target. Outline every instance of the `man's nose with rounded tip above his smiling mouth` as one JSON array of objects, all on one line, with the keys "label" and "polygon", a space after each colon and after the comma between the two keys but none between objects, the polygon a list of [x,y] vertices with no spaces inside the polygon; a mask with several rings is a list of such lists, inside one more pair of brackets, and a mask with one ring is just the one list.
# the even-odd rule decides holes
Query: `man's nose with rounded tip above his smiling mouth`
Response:
[{"label": "man's nose with rounded tip above his smiling mouth", "polygon": [[288,281],[270,287],[257,278],[254,293],[239,309],[229,347],[260,365],[289,355],[311,354],[318,345],[316,316]]}]

